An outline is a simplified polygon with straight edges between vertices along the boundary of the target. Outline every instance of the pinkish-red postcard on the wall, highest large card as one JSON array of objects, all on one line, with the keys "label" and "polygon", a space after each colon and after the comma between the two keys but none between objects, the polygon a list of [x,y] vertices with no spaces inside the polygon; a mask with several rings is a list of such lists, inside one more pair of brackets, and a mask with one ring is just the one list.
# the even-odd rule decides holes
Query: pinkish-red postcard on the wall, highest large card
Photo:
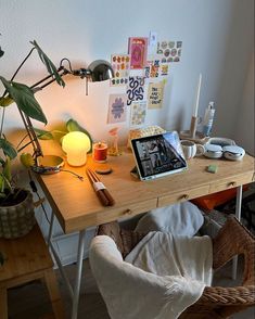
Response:
[{"label": "pinkish-red postcard on the wall, highest large card", "polygon": [[148,38],[129,38],[128,53],[130,54],[130,68],[143,68],[146,65]]}]

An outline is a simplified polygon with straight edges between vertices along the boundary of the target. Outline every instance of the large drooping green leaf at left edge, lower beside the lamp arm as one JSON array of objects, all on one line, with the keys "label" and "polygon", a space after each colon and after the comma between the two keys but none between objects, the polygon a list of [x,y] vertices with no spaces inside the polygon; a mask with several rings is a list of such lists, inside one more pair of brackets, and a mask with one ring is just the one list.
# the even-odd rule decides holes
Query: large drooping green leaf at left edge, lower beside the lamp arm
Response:
[{"label": "large drooping green leaf at left edge, lower beside the lamp arm", "polygon": [[2,76],[0,76],[0,79],[11,98],[26,115],[47,124],[46,115],[35,99],[34,91],[30,88],[23,84],[8,81]]}]

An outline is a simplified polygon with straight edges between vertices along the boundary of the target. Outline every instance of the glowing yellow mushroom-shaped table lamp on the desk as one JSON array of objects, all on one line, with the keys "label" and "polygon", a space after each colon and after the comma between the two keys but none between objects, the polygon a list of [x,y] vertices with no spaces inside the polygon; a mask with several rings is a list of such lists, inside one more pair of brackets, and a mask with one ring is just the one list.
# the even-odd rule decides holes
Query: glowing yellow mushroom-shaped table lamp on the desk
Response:
[{"label": "glowing yellow mushroom-shaped table lamp on the desk", "polygon": [[86,164],[87,152],[90,146],[90,139],[80,131],[68,132],[62,141],[62,149],[66,153],[67,163],[72,166],[82,166]]}]

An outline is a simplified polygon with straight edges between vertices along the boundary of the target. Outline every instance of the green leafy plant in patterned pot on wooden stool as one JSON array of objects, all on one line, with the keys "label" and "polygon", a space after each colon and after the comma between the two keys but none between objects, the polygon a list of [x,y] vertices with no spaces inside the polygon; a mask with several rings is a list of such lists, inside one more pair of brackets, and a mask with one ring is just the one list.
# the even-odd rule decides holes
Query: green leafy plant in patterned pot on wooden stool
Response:
[{"label": "green leafy plant in patterned pot on wooden stool", "polygon": [[[18,111],[28,118],[47,124],[46,115],[35,98],[35,92],[25,84],[15,82],[14,77],[23,64],[36,50],[41,62],[46,65],[50,75],[60,86],[64,87],[64,81],[58,73],[56,67],[46,55],[36,41],[30,42],[33,48],[24,59],[11,80],[7,80],[0,75],[3,85],[3,93],[0,97],[0,107],[2,109],[0,127],[0,238],[17,238],[26,234],[35,224],[33,195],[25,188],[17,188],[15,176],[12,174],[12,163],[23,149],[15,149],[3,133],[5,107],[15,103]],[[3,55],[0,47],[0,58]],[[22,157],[23,162],[33,160],[31,155]],[[24,161],[25,160],[25,161]],[[2,257],[0,256],[0,263]]]}]

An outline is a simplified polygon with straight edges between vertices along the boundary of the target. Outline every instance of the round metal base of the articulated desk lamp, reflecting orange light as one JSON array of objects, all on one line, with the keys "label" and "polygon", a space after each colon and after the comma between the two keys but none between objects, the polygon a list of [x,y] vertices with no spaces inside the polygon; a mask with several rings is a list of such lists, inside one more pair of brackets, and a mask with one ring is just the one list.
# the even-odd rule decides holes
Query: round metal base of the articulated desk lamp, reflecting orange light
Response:
[{"label": "round metal base of the articulated desk lamp, reflecting orange light", "polygon": [[37,165],[31,169],[39,174],[55,174],[61,171],[64,166],[64,160],[56,155],[44,155],[37,158]]}]

